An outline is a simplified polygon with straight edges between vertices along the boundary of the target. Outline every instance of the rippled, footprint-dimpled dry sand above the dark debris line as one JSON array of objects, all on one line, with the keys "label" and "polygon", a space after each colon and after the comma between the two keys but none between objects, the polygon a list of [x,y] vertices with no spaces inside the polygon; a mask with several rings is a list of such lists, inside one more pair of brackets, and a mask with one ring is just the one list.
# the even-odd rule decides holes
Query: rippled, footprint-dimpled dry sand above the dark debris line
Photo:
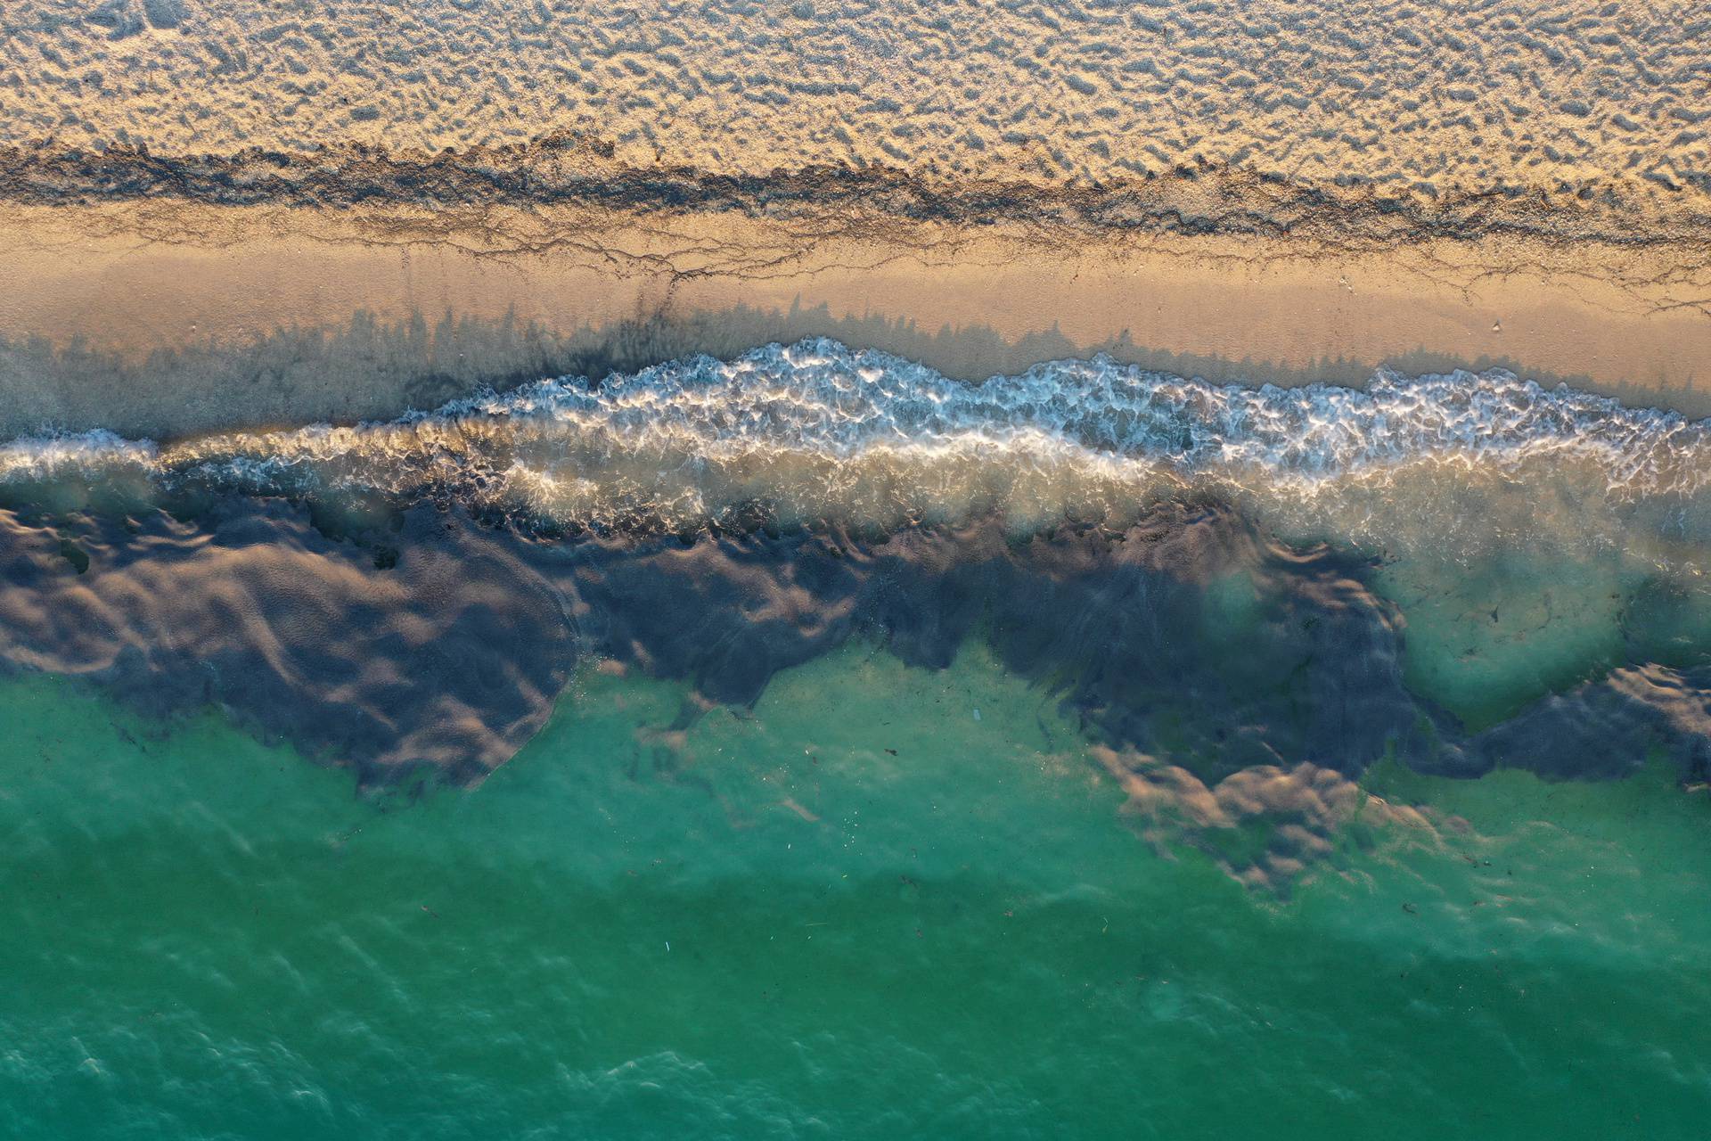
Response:
[{"label": "rippled, footprint-dimpled dry sand above the dark debris line", "polygon": [[1706,188],[1690,3],[27,0],[0,137],[517,142],[628,163],[1105,181],[1182,164],[1425,193]]}]

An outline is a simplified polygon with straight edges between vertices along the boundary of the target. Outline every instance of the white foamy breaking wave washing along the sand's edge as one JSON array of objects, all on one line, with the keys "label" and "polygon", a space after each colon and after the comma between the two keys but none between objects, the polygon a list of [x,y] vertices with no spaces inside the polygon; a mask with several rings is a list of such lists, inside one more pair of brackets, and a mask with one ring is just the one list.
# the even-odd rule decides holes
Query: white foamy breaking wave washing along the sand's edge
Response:
[{"label": "white foamy breaking wave washing along the sand's edge", "polygon": [[1018,525],[1234,494],[1295,530],[1406,544],[1451,532],[1711,534],[1708,428],[1511,373],[1360,390],[1211,385],[1105,358],[970,385],[830,340],[696,358],[604,383],[352,428],[157,448],[108,433],[0,448],[0,481],[145,477],[252,493],[452,496],[484,508],[667,525],[765,503],[785,520],[893,523],[980,510]]}]

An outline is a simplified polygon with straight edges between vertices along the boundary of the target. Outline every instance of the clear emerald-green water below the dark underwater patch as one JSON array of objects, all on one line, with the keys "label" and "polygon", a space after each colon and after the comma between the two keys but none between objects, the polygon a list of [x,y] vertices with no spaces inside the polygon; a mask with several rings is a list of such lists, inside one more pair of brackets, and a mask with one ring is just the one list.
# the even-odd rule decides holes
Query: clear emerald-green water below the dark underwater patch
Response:
[{"label": "clear emerald-green water below the dark underwater patch", "polygon": [[1420,823],[1261,891],[977,648],[751,712],[590,667],[467,792],[46,677],[0,724],[7,1138],[1711,1129],[1711,794],[1661,765],[1379,765]]}]

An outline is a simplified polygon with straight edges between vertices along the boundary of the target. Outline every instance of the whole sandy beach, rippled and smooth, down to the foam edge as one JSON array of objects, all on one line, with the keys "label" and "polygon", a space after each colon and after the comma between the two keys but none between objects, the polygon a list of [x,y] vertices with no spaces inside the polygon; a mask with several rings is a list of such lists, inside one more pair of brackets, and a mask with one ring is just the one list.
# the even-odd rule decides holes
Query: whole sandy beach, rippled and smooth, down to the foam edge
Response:
[{"label": "whole sandy beach, rippled and smooth, down to the foam edge", "polygon": [[0,433],[816,334],[1706,414],[1708,130],[1687,3],[14,0]]}]

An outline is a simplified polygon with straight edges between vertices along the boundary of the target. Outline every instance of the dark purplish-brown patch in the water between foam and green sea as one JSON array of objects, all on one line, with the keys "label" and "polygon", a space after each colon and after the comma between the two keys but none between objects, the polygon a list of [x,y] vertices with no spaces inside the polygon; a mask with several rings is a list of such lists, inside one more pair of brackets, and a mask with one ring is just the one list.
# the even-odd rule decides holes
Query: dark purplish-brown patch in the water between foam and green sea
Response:
[{"label": "dark purplish-brown patch in the water between foam and green sea", "polygon": [[1456,775],[1610,777],[1655,748],[1704,766],[1706,671],[1636,664],[1468,737],[1403,684],[1403,623],[1369,570],[1217,503],[1027,539],[998,520],[539,537],[435,506],[329,537],[303,506],[229,494],[193,520],[0,511],[0,662],[157,715],[219,705],[363,782],[481,778],[583,657],[741,706],[850,638],[926,669],[986,638],[1092,737],[1208,782],[1389,753]]}]

